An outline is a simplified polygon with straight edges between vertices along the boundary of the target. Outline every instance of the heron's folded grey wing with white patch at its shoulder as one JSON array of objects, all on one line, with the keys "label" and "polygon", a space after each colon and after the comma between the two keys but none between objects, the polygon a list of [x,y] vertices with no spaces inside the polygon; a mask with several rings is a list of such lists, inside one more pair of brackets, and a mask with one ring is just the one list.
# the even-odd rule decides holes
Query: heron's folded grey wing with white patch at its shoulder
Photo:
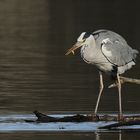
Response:
[{"label": "heron's folded grey wing with white patch at its shoulder", "polygon": [[138,53],[137,50],[118,39],[106,38],[102,41],[101,46],[101,51],[106,59],[117,66],[123,66],[133,61]]}]

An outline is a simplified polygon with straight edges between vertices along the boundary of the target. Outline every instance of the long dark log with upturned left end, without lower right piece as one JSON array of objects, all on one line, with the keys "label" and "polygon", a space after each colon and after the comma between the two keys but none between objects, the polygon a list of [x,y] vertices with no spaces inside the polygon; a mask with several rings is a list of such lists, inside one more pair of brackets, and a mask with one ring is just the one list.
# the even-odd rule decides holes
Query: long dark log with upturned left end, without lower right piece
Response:
[{"label": "long dark log with upturned left end, without lower right piece", "polygon": [[[49,122],[97,122],[97,121],[117,121],[117,115],[81,115],[76,114],[72,116],[64,116],[64,117],[52,117],[50,115],[45,115],[38,111],[33,112],[37,119],[36,120],[25,120],[26,122],[37,122],[37,123],[49,123]],[[122,122],[130,122],[130,121],[139,121],[140,115],[126,115]]]}]

